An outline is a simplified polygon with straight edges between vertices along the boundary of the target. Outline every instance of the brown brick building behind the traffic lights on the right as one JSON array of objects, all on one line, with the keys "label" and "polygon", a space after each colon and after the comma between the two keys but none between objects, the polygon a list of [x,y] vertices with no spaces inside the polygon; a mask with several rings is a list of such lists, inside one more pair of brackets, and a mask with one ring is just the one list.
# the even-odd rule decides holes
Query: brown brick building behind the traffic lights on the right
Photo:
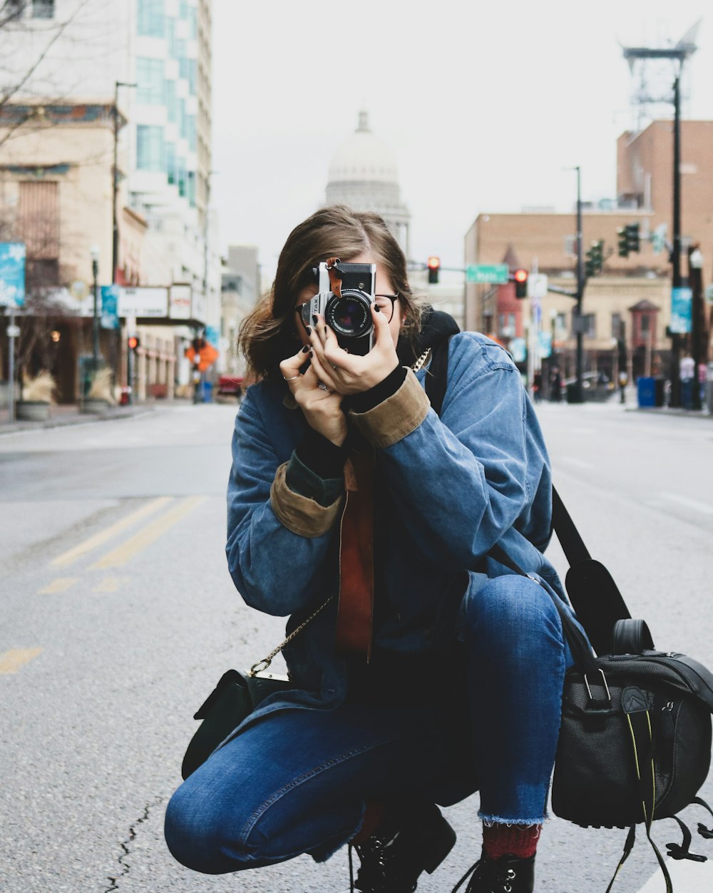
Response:
[{"label": "brown brick building behind the traffic lights on the right", "polygon": [[[683,121],[683,250],[699,243],[713,260],[713,121]],[[667,373],[670,339],[669,249],[673,217],[673,122],[653,121],[641,133],[626,132],[617,144],[617,198],[583,204],[584,251],[604,240],[604,270],[584,290],[585,369],[614,376],[621,363],[630,375]],[[618,256],[617,230],[638,223],[641,251]],[[654,235],[658,238],[654,238]],[[576,214],[531,211],[480,213],[465,238],[466,263],[510,263],[547,273],[551,283],[576,288]],[[710,268],[709,268],[710,269]],[[682,270],[686,271],[685,261]],[[704,271],[705,275],[705,271]],[[575,302],[548,294],[543,330],[551,326],[565,375],[574,367]],[[521,337],[528,302],[516,301],[514,286],[466,287],[466,327],[509,344]],[[623,336],[624,346],[616,341]]]}]

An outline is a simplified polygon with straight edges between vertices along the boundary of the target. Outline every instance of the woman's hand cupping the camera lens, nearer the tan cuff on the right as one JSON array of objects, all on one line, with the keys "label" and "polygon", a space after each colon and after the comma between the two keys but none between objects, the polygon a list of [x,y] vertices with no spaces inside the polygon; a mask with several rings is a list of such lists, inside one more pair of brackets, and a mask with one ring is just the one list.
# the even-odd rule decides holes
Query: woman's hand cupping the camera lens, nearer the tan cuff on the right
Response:
[{"label": "woman's hand cupping the camera lens, nearer the tan cuff on the right", "polygon": [[391,328],[376,304],[371,305],[371,318],[374,321],[374,346],[364,356],[349,354],[340,347],[335,333],[321,314],[316,317],[316,322],[312,320],[312,366],[318,375],[329,370],[329,378],[340,394],[361,394],[373,388],[399,364]]}]

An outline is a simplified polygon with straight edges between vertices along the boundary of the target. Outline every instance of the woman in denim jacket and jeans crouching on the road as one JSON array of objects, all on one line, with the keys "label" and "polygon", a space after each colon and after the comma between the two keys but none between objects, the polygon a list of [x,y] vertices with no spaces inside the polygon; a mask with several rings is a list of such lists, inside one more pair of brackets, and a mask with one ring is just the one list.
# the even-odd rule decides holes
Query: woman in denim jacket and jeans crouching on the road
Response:
[{"label": "woman in denim jacket and jeans crouching on the road", "polygon": [[[320,263],[335,293],[344,263],[376,264],[369,352],[340,346],[323,313],[305,321]],[[295,688],[172,797],[171,852],[220,874],[348,843],[358,889],[410,893],[455,840],[436,804],[479,790],[468,893],[533,890],[571,658],[545,588],[488,555],[499,544],[561,592],[543,556],[550,466],[517,368],[419,313],[384,221],[343,206],[287,238],[241,345],[258,383],[236,418],[229,569],[288,632],[318,613],[284,649]],[[424,390],[439,347],[440,418]]]}]

